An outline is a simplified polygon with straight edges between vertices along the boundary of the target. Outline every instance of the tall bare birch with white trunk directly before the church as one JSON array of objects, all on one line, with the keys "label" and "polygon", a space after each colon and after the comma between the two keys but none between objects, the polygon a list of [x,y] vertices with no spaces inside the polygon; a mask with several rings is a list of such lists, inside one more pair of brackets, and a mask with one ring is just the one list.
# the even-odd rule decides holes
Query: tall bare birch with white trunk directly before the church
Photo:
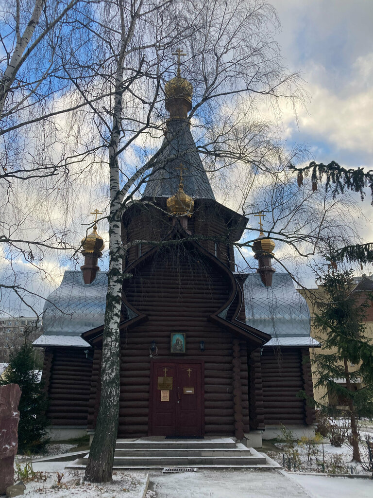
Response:
[{"label": "tall bare birch with white trunk directly before the church", "polygon": [[[235,192],[242,194],[236,199],[235,208],[243,215],[263,207],[261,199],[259,202],[253,198],[256,179],[266,178],[264,189],[271,186],[269,178],[288,185],[286,179],[279,180],[278,165],[282,170],[290,160],[304,158],[302,149],[290,153],[285,150],[279,132],[275,131],[276,123],[262,120],[260,110],[264,105],[279,113],[282,99],[301,104],[305,96],[299,75],[289,73],[283,66],[274,39],[277,14],[265,1],[207,0],[201,5],[197,0],[101,0],[65,5],[71,5],[71,10],[61,17],[61,22],[65,20],[57,38],[48,38],[53,52],[51,61],[56,64],[53,73],[48,73],[48,81],[54,82],[49,83],[54,98],[48,100],[40,90],[40,78],[35,78],[31,95],[41,92],[39,107],[23,119],[23,97],[19,94],[18,114],[9,114],[9,118],[4,115],[6,139],[2,150],[11,143],[15,136],[12,133],[22,130],[26,137],[29,126],[36,123],[39,127],[32,128],[32,132],[40,142],[48,138],[50,154],[42,154],[27,172],[17,172],[22,181],[27,178],[32,187],[39,182],[43,185],[41,192],[48,195],[60,188],[59,197],[65,196],[69,201],[65,204],[71,210],[71,190],[75,194],[83,192],[96,175],[102,184],[109,185],[110,261],[101,400],[86,470],[87,480],[102,482],[111,480],[112,475],[119,409],[121,289],[123,278],[130,278],[122,273],[128,247],[121,242],[121,217],[130,203],[139,202],[153,166],[165,166],[158,160],[166,120],[163,87],[177,71],[175,50],[182,48],[187,54],[181,70],[194,88],[189,118],[211,183],[219,186],[220,200],[224,198],[224,189],[231,192],[234,184]],[[39,24],[41,17],[39,14]],[[46,39],[47,34],[42,40]],[[34,81],[33,76],[29,72],[25,81]],[[3,86],[4,109],[18,87],[17,79],[9,84]],[[9,89],[5,91],[6,88]],[[27,110],[29,102],[30,97],[24,105]],[[52,131],[52,140],[47,130]],[[171,139],[167,137],[163,147]],[[53,148],[59,150],[58,157]],[[6,157],[9,164],[13,161],[4,172],[7,178],[3,179],[8,181],[9,171],[13,176],[17,171],[13,168],[16,148],[12,156]],[[43,183],[45,175],[51,179],[48,188]],[[306,202],[300,201],[303,205]],[[278,206],[276,195],[271,202]],[[313,208],[319,203],[310,199],[307,202]],[[279,239],[287,238],[299,253],[307,254],[309,249],[305,251],[300,245],[307,239],[307,223],[294,223],[290,214],[294,208],[294,204],[288,205],[288,218],[280,229],[279,220],[285,217],[281,217],[280,208],[277,210],[279,216],[273,219],[271,235],[277,233]],[[324,203],[322,209],[325,211],[328,206]],[[321,224],[327,222],[328,218],[321,217]],[[315,223],[312,227],[308,240],[314,251],[324,235],[321,231],[317,236]],[[66,233],[57,239],[55,236],[53,244],[47,239],[39,241],[40,246],[45,242],[46,246],[66,249]],[[250,248],[253,238],[256,235],[253,237],[250,232],[239,246]],[[22,240],[27,243],[27,238]],[[154,241],[139,242],[151,245]],[[7,243],[12,243],[12,237],[7,237]]]}]

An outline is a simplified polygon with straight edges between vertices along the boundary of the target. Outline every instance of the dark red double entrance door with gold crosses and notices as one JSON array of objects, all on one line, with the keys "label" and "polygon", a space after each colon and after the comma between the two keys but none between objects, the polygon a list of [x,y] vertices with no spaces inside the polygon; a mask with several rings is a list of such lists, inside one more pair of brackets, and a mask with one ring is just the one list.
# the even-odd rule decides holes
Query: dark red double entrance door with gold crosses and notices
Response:
[{"label": "dark red double entrance door with gold crosses and notices", "polygon": [[150,435],[203,435],[202,373],[201,363],[152,363]]}]

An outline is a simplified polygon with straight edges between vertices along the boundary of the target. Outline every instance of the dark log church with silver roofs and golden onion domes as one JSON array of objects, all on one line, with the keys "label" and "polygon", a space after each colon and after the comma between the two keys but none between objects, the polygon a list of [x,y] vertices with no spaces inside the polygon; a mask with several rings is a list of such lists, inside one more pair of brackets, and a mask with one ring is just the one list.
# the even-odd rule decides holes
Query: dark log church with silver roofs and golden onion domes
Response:
[{"label": "dark log church with silver roofs and golden onion domes", "polygon": [[[281,423],[310,430],[313,409],[297,396],[312,396],[317,345],[305,299],[275,272],[275,244],[263,234],[257,273],[235,271],[248,220],[215,200],[187,117],[191,84],[179,72],[165,91],[164,150],[122,219],[123,244],[136,244],[123,261],[132,277],[122,292],[118,437],[246,436],[259,445]],[[100,397],[107,277],[96,227],[82,246],[85,264],[65,271],[34,343],[45,348],[56,439],[92,434]]]}]

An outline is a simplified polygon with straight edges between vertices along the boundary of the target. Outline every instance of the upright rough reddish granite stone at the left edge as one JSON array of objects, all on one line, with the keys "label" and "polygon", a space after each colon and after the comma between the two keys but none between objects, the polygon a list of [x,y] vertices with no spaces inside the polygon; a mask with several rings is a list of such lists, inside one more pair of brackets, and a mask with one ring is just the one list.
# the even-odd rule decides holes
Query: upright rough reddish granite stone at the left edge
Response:
[{"label": "upright rough reddish granite stone at the left edge", "polygon": [[0,386],[0,494],[14,483],[14,455],[18,448],[18,384]]}]

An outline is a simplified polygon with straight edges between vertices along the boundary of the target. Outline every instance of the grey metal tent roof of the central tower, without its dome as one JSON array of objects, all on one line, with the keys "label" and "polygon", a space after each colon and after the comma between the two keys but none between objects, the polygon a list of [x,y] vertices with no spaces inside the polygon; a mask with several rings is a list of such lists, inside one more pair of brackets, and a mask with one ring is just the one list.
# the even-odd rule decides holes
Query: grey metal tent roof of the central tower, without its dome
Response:
[{"label": "grey metal tent roof of the central tower, without its dome", "polygon": [[153,168],[143,197],[171,197],[180,183],[180,163],[183,164],[184,191],[194,199],[214,199],[210,182],[185,120],[167,123],[168,142]]}]

